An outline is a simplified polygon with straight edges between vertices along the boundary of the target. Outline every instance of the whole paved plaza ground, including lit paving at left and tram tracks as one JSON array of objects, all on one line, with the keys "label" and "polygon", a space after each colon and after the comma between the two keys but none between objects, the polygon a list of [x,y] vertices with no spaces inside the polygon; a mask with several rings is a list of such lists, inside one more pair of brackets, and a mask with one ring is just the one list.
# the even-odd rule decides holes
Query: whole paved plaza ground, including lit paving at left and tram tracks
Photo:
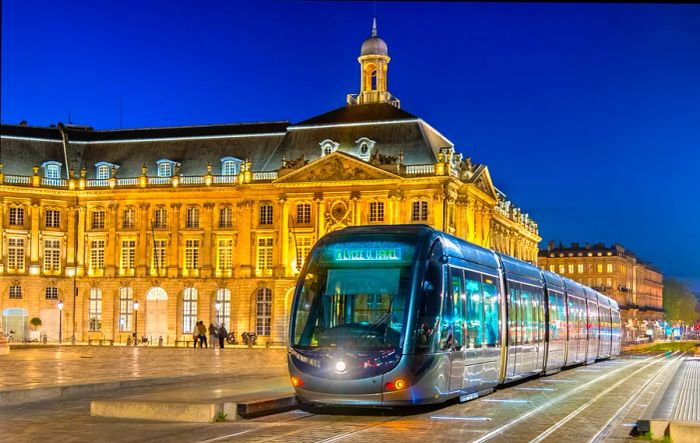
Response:
[{"label": "whole paved plaza ground, including lit paving at left and tram tracks", "polygon": [[0,407],[0,432],[3,441],[637,441],[630,435],[634,423],[680,355],[641,350],[438,408],[352,413],[296,409],[252,420],[196,424],[91,417],[90,401],[284,389],[286,350],[13,349],[0,357],[2,390],[117,379],[156,382]]}]

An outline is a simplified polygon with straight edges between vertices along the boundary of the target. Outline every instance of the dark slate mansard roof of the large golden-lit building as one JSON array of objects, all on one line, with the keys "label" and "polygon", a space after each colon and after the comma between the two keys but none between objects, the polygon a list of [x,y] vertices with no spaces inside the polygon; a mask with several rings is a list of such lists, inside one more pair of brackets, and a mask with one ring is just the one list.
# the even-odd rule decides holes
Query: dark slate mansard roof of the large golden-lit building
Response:
[{"label": "dark slate mansard roof of the large golden-lit building", "polygon": [[[63,150],[63,134],[68,144]],[[250,159],[254,171],[277,170],[282,159],[322,156],[320,143],[332,140],[338,151],[356,157],[358,140],[374,142],[372,152],[403,155],[404,164],[432,164],[440,148],[452,143],[415,115],[388,103],[344,106],[297,124],[286,121],[162,128],[94,130],[86,126],[35,127],[1,125],[2,162],[6,174],[31,175],[32,166],[53,160],[88,177],[94,165],[119,165],[119,177],[155,175],[156,161],[181,163],[183,175],[202,175],[211,162],[219,173],[222,157]]]}]

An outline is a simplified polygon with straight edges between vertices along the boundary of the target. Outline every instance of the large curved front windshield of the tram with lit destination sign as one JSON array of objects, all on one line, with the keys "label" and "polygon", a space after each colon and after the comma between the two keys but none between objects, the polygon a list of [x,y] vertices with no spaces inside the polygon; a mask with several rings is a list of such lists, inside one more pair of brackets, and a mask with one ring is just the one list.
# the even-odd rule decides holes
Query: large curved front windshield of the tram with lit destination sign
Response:
[{"label": "large curved front windshield of the tram with lit destination sign", "polygon": [[302,349],[400,347],[417,238],[353,236],[314,251],[295,304]]}]

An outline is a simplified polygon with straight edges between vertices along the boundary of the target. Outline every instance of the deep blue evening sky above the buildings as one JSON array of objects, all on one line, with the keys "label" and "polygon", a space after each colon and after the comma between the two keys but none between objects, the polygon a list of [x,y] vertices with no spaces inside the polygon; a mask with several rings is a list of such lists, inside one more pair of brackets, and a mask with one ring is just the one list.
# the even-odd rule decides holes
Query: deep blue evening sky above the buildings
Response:
[{"label": "deep blue evening sky above the buildings", "polygon": [[[389,89],[547,241],[700,289],[700,5],[379,3]],[[2,122],[290,120],[357,92],[373,3],[5,0]]]}]

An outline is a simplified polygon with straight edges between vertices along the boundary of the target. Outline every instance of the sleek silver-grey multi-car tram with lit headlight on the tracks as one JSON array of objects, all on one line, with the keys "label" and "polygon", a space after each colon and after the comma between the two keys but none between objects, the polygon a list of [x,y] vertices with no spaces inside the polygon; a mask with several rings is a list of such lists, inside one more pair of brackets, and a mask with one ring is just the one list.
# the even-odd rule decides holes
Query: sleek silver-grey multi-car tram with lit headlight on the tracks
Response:
[{"label": "sleek silver-grey multi-car tram with lit headlight on the tracks", "polygon": [[288,337],[297,398],[338,406],[466,401],[619,353],[614,300],[426,225],[319,240]]}]

